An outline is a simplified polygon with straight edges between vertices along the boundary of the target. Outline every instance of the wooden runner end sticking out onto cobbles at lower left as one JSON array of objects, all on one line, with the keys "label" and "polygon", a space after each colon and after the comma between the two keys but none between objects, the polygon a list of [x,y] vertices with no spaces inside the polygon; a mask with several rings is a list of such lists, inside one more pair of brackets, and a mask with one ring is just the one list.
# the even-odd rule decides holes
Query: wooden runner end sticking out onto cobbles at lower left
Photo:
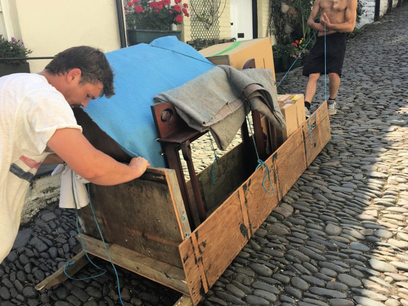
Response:
[{"label": "wooden runner end sticking out onto cobbles at lower left", "polygon": [[[88,254],[88,257],[90,259],[93,258],[91,254]],[[77,255],[72,257],[68,263],[74,263],[72,266],[68,266],[65,268],[65,272],[72,276],[75,273],[77,273],[79,270],[81,270],[83,267],[85,267],[89,261],[85,256],[85,252],[82,250],[80,251]],[[53,287],[55,285],[58,285],[64,281],[66,281],[68,277],[64,273],[64,267],[59,268],[57,271],[55,271],[53,274],[49,275],[46,277],[41,283],[39,283],[37,286],[35,286],[36,290],[41,290],[43,288],[48,289],[50,287]]]}]

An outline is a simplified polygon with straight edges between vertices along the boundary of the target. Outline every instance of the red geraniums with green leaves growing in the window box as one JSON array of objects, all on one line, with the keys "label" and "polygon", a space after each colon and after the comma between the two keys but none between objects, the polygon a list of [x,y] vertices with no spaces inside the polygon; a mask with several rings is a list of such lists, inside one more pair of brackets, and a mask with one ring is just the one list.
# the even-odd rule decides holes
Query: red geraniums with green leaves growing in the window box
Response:
[{"label": "red geraniums with green leaves growing in the window box", "polygon": [[171,24],[181,24],[189,17],[188,4],[182,0],[133,0],[125,5],[126,23],[129,29],[170,30]]}]

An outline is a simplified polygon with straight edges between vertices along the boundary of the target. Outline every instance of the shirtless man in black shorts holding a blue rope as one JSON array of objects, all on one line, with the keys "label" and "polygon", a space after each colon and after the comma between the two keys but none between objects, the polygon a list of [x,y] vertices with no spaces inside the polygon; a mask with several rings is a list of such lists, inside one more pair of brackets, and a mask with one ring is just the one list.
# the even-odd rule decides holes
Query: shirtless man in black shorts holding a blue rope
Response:
[{"label": "shirtless man in black shorts holding a blue rope", "polygon": [[[315,18],[320,11],[320,23]],[[315,45],[303,67],[303,75],[309,77],[304,94],[306,116],[316,93],[317,80],[324,74],[324,25],[326,25],[326,73],[328,74],[328,113],[336,111],[336,96],[340,86],[343,59],[346,51],[346,33],[353,32],[357,17],[357,0],[316,0],[308,19],[308,26],[319,32]]]}]

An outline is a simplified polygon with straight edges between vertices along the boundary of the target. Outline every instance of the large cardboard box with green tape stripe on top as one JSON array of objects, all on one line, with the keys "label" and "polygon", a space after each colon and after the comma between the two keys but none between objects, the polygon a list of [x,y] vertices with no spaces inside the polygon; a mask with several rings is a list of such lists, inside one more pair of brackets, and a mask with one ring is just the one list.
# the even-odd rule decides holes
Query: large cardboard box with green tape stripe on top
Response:
[{"label": "large cardboard box with green tape stripe on top", "polygon": [[248,60],[255,59],[256,68],[272,69],[276,81],[269,37],[220,43],[198,52],[215,65],[228,65],[238,70],[242,70]]}]

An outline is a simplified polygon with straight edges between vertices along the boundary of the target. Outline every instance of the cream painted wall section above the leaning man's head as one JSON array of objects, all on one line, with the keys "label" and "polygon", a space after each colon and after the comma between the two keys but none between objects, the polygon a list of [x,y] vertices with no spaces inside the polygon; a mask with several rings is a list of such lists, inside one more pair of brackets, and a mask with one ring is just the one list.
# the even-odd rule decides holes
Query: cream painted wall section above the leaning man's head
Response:
[{"label": "cream painted wall section above the leaning man's head", "polygon": [[[78,45],[98,47],[104,52],[120,48],[114,0],[1,1],[8,2],[14,36],[33,50],[32,57],[54,56]],[[31,60],[31,72],[42,70],[48,62]]]}]

